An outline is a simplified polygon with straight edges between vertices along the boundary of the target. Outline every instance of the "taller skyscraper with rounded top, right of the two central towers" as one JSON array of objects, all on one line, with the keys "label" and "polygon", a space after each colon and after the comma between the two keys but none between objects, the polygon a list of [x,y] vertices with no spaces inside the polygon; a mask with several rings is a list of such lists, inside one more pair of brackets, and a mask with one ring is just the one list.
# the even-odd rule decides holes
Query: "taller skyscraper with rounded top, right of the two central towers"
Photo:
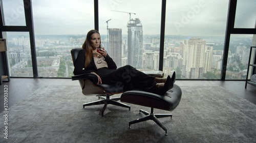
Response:
[{"label": "taller skyscraper with rounded top, right of the two central towers", "polygon": [[127,64],[134,68],[142,68],[143,31],[138,18],[131,19],[128,24]]}]

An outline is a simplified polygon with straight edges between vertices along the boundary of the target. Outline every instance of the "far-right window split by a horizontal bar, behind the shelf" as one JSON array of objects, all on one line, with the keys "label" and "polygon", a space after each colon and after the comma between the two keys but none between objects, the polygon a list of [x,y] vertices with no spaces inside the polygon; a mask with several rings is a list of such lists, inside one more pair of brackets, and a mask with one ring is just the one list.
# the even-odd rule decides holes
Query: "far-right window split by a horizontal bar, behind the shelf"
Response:
[{"label": "far-right window split by a horizontal bar, behind the shelf", "polygon": [[[246,30],[246,28],[255,28],[255,8],[256,4],[253,0],[238,0],[234,28],[244,28],[244,30]],[[246,78],[250,46],[256,46],[255,42],[253,34],[230,35],[226,79]],[[254,54],[255,51],[253,50],[252,57],[254,57]]]}]

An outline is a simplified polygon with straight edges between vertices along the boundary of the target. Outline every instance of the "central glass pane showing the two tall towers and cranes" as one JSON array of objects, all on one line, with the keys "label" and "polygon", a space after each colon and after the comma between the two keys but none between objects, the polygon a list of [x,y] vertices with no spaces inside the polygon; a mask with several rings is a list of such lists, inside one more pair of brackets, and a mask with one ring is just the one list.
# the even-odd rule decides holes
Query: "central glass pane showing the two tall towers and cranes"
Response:
[{"label": "central glass pane showing the two tall towers and cranes", "polygon": [[161,1],[99,0],[99,32],[118,67],[159,69]]}]

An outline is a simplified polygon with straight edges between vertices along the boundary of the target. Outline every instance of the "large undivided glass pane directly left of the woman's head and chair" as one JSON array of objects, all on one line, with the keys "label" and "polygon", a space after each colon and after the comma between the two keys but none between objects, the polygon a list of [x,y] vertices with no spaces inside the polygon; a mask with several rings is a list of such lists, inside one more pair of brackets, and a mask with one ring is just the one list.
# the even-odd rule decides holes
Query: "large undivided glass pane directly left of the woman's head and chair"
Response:
[{"label": "large undivided glass pane directly left of the woman's head and chair", "polygon": [[70,50],[94,28],[93,1],[32,0],[39,77],[71,77]]}]

